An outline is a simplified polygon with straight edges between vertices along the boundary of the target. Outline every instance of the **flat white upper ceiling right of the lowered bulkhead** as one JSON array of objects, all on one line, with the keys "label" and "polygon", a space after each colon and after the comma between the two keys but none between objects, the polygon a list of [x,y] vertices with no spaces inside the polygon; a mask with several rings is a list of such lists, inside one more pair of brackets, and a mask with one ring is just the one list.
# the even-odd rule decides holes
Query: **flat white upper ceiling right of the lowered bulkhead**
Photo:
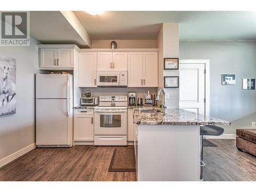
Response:
[{"label": "flat white upper ceiling right of the lowered bulkhead", "polygon": [[256,12],[74,11],[92,39],[156,39],[162,23],[180,23],[180,40],[256,40]]}]

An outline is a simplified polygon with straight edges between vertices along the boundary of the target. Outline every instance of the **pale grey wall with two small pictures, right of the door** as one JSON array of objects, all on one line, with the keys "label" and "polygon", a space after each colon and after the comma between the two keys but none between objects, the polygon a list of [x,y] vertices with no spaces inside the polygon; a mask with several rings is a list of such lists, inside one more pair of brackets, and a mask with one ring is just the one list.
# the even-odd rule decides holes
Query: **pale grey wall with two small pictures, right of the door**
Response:
[{"label": "pale grey wall with two small pictures, right of the door", "polygon": [[[256,78],[255,41],[180,41],[180,59],[210,59],[210,116],[241,121],[256,112],[256,91],[242,90],[242,78]],[[223,86],[221,74],[236,74],[237,84]],[[235,124],[225,133],[233,134]]]}]

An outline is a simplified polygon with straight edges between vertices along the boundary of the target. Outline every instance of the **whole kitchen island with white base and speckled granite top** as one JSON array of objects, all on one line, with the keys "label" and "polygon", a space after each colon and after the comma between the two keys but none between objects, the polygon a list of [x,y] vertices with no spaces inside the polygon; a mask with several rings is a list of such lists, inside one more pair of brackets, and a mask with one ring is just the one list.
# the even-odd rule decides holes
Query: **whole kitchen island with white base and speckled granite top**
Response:
[{"label": "whole kitchen island with white base and speckled granite top", "polygon": [[230,122],[180,109],[134,108],[138,181],[199,181],[200,125]]}]

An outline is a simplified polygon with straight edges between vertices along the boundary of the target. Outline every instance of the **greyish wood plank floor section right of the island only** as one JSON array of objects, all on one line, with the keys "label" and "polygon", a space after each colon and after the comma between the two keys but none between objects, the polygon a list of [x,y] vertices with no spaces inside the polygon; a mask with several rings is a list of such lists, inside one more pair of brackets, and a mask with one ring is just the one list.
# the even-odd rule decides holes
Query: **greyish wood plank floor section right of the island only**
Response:
[{"label": "greyish wood plank floor section right of the island only", "polygon": [[218,147],[204,147],[205,181],[256,181],[256,158],[239,152],[234,139],[209,139]]}]

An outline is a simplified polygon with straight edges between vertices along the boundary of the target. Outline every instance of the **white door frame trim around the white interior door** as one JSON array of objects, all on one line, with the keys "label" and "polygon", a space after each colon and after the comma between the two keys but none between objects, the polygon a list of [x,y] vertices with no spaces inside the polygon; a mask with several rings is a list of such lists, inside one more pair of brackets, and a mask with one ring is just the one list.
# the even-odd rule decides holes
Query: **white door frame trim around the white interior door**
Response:
[{"label": "white door frame trim around the white interior door", "polygon": [[210,116],[210,59],[179,59],[179,64],[205,65],[205,115]]}]

